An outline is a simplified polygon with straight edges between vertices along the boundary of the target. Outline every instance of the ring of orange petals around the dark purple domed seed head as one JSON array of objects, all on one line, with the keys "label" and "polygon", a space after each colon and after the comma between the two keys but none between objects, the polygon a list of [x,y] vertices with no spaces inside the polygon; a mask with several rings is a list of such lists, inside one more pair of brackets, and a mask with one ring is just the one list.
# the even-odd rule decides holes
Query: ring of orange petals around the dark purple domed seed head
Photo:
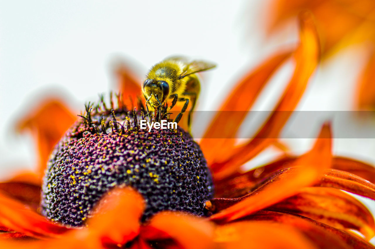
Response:
[{"label": "ring of orange petals around the dark purple domed seed head", "polygon": [[[235,146],[235,140],[230,137],[239,129],[245,112],[243,115],[218,112],[213,121],[216,125],[208,128],[199,143],[210,167],[215,188],[215,198],[205,202],[207,217],[169,210],[154,212],[147,221],[141,222],[144,210],[147,209],[147,200],[136,189],[129,187],[115,188],[108,192],[83,228],[66,227],[41,216],[33,209],[39,202],[33,194],[40,191],[40,172],[48,161],[46,151],[49,153],[52,150],[53,144],[58,140],[56,137],[61,136],[62,130],[65,130],[55,130],[50,126],[42,126],[41,123],[46,124],[45,121],[48,120],[55,124],[56,121],[63,121],[62,119],[66,119],[62,123],[72,123],[69,111],[60,103],[52,101],[20,126],[36,128],[37,138],[48,143],[38,143],[43,152],[40,153],[38,174],[23,174],[0,186],[6,192],[0,195],[0,224],[4,231],[0,234],[3,238],[1,247],[373,248],[368,243],[375,232],[372,214],[362,203],[341,189],[375,199],[375,185],[370,182],[374,182],[375,170],[359,161],[333,157],[329,124],[323,125],[312,149],[299,157],[285,154],[274,163],[251,171],[243,172],[240,168],[270,145],[279,145],[276,138],[318,64],[320,47],[312,16],[309,13],[301,15],[300,25],[300,44],[297,49],[294,52],[279,52],[260,63],[237,84],[220,107],[221,111],[248,110],[273,72],[293,55],[296,61],[294,75],[272,115],[254,139]],[[125,92],[135,99],[140,92],[138,82],[132,79],[126,69],[120,70],[119,74]],[[51,111],[56,116],[49,115]],[[118,118],[115,114],[110,112],[107,116],[112,116],[115,121]],[[136,117],[138,116],[133,114],[132,119]],[[83,121],[76,123],[66,133],[65,140],[61,140],[55,148],[50,162],[62,163],[55,155],[63,151],[58,149],[59,146],[64,147],[65,142],[71,142],[69,139],[72,130],[78,128],[87,131],[89,127],[92,131],[90,134],[95,137],[97,131],[94,127],[98,127],[91,123],[102,123],[104,120],[99,116],[90,117],[89,108],[84,119],[86,126]],[[115,127],[116,122],[112,124],[111,132],[120,132],[120,127]],[[104,126],[101,132],[106,130]],[[98,133],[101,134],[99,130]],[[90,134],[81,133],[82,137],[79,138],[90,139]],[[217,138],[218,134],[222,138]],[[100,135],[97,134],[98,136]],[[188,134],[179,139],[184,136]],[[89,142],[90,144],[83,146],[89,149],[95,147],[94,141]],[[69,153],[80,153],[78,149],[69,151],[69,148],[63,152],[66,152],[66,157]],[[157,157],[160,158],[160,155]],[[51,167],[54,165],[50,164]],[[48,174],[46,177],[48,179]],[[71,191],[68,186],[62,186],[63,190],[64,187],[66,191]],[[365,239],[351,230],[361,233]],[[9,239],[5,240],[6,237]]]}]

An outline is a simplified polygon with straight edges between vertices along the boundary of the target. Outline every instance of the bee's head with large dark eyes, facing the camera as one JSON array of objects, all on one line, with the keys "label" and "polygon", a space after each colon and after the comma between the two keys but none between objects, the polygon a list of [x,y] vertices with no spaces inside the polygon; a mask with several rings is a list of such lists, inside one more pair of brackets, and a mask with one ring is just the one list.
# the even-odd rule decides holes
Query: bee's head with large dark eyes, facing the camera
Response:
[{"label": "bee's head with large dark eyes, facing the camera", "polygon": [[159,106],[159,102],[162,104],[168,97],[169,85],[166,81],[146,79],[143,82],[143,93],[147,99],[151,97],[149,102],[152,106]]}]

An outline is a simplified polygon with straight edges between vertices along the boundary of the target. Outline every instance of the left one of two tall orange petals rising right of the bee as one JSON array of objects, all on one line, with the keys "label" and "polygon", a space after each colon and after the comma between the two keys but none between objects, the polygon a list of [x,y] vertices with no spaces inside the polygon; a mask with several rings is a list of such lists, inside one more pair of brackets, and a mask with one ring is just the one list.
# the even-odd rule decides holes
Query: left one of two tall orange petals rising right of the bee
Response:
[{"label": "left one of two tall orange petals rising right of the bee", "polygon": [[246,110],[251,108],[261,89],[290,54],[290,51],[286,51],[273,55],[237,83],[236,88],[232,90],[211,121],[199,144],[208,164],[211,164],[217,155],[225,153],[227,156],[228,152],[231,152],[235,142],[234,134],[248,114]]}]

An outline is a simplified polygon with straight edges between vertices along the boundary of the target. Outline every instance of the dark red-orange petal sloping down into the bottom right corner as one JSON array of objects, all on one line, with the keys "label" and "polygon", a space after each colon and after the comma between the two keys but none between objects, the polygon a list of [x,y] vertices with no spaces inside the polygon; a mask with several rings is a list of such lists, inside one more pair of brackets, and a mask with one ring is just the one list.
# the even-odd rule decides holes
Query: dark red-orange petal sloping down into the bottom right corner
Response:
[{"label": "dark red-orange petal sloping down into the bottom right corner", "polygon": [[321,249],[374,249],[374,246],[360,237],[357,237],[354,233],[349,234],[324,223],[299,215],[273,211],[258,211],[246,217],[246,219],[291,225],[299,229],[299,231],[309,237],[311,241]]}]

